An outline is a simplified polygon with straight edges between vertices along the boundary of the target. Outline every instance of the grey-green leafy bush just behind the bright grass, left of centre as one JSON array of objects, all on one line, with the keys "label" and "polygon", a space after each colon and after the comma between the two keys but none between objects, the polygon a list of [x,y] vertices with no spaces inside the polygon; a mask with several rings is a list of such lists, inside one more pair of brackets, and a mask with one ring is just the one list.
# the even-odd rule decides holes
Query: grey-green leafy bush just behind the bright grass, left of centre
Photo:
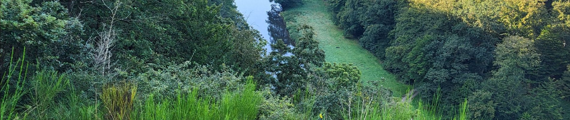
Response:
[{"label": "grey-green leafy bush just behind the bright grass, left of centre", "polygon": [[177,90],[190,92],[198,88],[200,96],[210,96],[215,99],[222,98],[226,90],[234,91],[243,88],[243,76],[241,73],[223,66],[219,71],[210,65],[198,65],[186,61],[178,65],[168,67],[149,67],[148,71],[136,76],[128,77],[138,85],[140,100],[146,100],[146,96],[153,93],[158,100],[174,98]]}]

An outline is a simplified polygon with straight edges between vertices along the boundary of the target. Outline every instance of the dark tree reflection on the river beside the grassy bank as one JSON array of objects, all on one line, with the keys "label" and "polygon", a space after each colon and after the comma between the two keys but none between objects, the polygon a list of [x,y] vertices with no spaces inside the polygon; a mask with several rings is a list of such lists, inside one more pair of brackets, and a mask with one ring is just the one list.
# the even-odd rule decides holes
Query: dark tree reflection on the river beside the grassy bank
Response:
[{"label": "dark tree reflection on the river beside the grassy bank", "polygon": [[[293,48],[295,42],[289,38],[289,32],[287,31],[287,25],[285,24],[283,17],[280,13],[283,11],[279,4],[272,4],[271,10],[267,11],[267,20],[265,22],[267,25],[269,37],[269,44],[277,43],[277,40],[283,40],[283,43],[287,44],[289,47]],[[276,51],[279,49],[271,48],[271,51]],[[280,50],[279,50],[280,51]],[[287,53],[290,54],[290,53]]]}]

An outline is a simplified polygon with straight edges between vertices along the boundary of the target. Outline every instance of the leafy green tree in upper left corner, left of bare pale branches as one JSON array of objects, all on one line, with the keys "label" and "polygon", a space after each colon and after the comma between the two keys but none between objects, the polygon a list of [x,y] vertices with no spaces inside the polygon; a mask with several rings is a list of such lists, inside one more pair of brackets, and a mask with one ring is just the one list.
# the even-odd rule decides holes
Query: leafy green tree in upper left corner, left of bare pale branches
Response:
[{"label": "leafy green tree in upper left corner, left of bare pale branches", "polygon": [[[2,0],[0,14],[0,72],[5,72],[10,52],[27,48],[26,60],[39,59],[43,65],[66,69],[80,61],[86,52],[79,39],[83,25],[68,16],[68,10],[59,2],[32,0]],[[13,48],[13,51],[10,51]]]}]

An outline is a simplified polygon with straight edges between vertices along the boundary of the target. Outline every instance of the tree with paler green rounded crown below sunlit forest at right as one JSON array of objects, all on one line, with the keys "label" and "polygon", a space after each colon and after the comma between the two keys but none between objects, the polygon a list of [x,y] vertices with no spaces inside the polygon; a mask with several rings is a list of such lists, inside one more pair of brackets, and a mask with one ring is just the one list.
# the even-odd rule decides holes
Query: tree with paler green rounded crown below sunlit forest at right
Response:
[{"label": "tree with paler green rounded crown below sunlit forest at right", "polygon": [[491,92],[495,107],[495,119],[517,119],[528,107],[531,80],[528,78],[540,64],[534,41],[520,36],[509,36],[497,45],[494,65],[499,69],[483,84],[483,90]]}]

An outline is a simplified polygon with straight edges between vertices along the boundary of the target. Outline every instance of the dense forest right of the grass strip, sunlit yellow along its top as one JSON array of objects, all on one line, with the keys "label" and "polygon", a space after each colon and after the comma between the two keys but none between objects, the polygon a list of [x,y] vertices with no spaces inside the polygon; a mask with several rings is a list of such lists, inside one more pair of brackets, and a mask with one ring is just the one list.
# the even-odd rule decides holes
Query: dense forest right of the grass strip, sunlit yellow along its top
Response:
[{"label": "dense forest right of the grass strip, sunlit yellow along its top", "polygon": [[570,118],[570,1],[325,1],[424,100],[441,89],[474,119]]}]

